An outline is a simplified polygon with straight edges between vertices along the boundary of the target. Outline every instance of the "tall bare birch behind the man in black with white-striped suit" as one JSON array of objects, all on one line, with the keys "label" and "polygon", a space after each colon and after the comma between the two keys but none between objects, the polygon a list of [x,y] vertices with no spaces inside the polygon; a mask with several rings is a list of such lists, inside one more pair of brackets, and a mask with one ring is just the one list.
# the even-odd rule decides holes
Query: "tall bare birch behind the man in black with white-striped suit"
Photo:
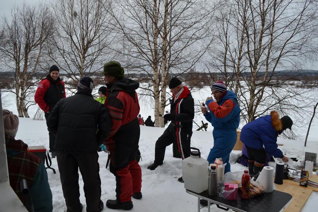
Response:
[{"label": "tall bare birch behind the man in black with white-striped suit", "polygon": [[117,51],[128,70],[146,74],[141,94],[154,99],[157,127],[170,76],[193,69],[211,45],[214,10],[208,0],[121,0],[113,7],[122,41]]}]

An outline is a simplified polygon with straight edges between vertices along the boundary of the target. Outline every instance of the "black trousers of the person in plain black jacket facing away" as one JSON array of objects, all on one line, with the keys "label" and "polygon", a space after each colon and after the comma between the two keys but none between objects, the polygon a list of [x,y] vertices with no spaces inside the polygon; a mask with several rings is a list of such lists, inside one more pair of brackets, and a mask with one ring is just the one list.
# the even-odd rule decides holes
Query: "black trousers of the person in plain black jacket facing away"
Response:
[{"label": "black trousers of the person in plain black jacket facing away", "polygon": [[98,211],[100,205],[100,175],[96,152],[57,152],[60,179],[66,207],[79,211],[79,174],[84,182],[86,211]]}]

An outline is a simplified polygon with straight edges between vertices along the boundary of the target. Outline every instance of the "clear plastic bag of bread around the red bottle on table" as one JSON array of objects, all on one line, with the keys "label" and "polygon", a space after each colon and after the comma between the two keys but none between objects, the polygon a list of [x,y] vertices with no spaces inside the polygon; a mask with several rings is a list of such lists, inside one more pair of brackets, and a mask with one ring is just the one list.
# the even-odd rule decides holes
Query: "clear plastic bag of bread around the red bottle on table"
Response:
[{"label": "clear plastic bag of bread around the red bottle on table", "polygon": [[[218,195],[220,197],[223,197],[224,199],[228,198],[233,192],[234,189],[231,189],[229,191],[225,190],[225,183],[235,183],[238,184],[239,188],[242,189],[242,175],[244,172],[227,172],[224,174],[224,179],[222,182],[219,182],[218,184]],[[259,183],[251,180],[250,185],[250,195],[251,197],[263,194],[265,191],[264,187],[261,186]],[[232,193],[231,193],[232,192]]]}]

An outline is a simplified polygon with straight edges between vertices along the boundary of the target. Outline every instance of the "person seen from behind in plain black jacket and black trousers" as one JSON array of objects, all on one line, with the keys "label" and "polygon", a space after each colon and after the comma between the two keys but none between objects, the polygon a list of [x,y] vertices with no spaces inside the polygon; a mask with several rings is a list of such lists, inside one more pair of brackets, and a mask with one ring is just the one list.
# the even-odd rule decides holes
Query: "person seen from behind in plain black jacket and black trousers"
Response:
[{"label": "person seen from behind in plain black jacket and black trousers", "polygon": [[101,211],[98,147],[111,129],[107,108],[93,99],[93,80],[83,77],[77,93],[61,99],[47,119],[55,134],[55,149],[67,211],[82,211],[79,202],[79,174],[84,181],[86,211]]}]

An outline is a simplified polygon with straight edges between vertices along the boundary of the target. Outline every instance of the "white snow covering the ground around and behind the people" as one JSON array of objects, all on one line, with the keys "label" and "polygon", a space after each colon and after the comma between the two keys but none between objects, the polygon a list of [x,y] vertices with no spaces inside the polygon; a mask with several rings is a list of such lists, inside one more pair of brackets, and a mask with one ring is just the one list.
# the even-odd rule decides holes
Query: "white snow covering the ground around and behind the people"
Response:
[{"label": "white snow covering the ground around and behind the people", "polygon": [[[97,88],[98,89],[98,88]],[[210,94],[209,91],[200,92],[198,94],[193,94],[195,102],[202,101]],[[17,114],[17,109],[15,107],[15,99],[10,95],[6,95],[2,99],[4,103],[4,108],[13,111]],[[148,115],[153,117],[153,109],[149,100],[140,98],[141,111],[140,113],[146,119]],[[31,106],[29,110],[30,117],[35,114],[36,107]],[[44,145],[48,149],[49,136],[47,132],[47,127],[45,121],[32,120],[32,118],[20,118],[19,129],[16,138],[23,140],[29,146]],[[204,120],[203,115],[197,114],[195,121],[201,123]],[[316,120],[316,119],[315,119]],[[206,122],[204,120],[204,122]],[[317,123],[315,121],[315,123]],[[196,129],[197,127],[194,127]],[[306,126],[304,129],[307,129]],[[208,132],[194,131],[191,138],[191,146],[199,148],[202,152],[202,157],[206,158],[209,154],[210,148],[213,146],[212,138],[212,127],[209,124]],[[158,167],[154,171],[147,169],[154,160],[155,155],[155,143],[157,138],[163,133],[164,128],[158,127],[145,127],[141,126],[141,136],[139,141],[139,149],[142,154],[142,161],[140,161],[140,166],[142,168],[142,194],[141,200],[132,199],[134,203],[134,208],[132,211],[138,212],[148,212],[148,211],[176,211],[176,212],[187,212],[187,211],[197,211],[197,198],[189,195],[184,190],[184,184],[177,181],[177,178],[182,175],[182,164],[181,159],[172,157],[172,145],[167,147],[165,154],[165,161],[162,166]],[[303,130],[306,131],[306,130]],[[303,138],[304,134],[302,134]],[[315,152],[318,153],[318,127],[315,124],[312,126],[307,147],[304,147],[304,140],[285,140],[278,139],[280,149],[289,157],[298,157],[300,161],[304,160],[305,152]],[[240,151],[232,151],[230,156],[231,170],[232,171],[242,171],[245,169],[244,166],[240,164],[234,164],[237,158],[241,155]],[[107,199],[115,198],[115,178],[114,175],[109,172],[109,168],[106,170],[105,165],[107,161],[107,154],[104,152],[99,153],[99,163],[100,163],[100,178],[101,178],[101,189],[102,195],[101,200],[106,203]],[[275,167],[273,162],[270,162],[270,166]],[[63,198],[61,183],[59,179],[59,171],[56,159],[52,160],[52,167],[57,171],[53,174],[52,170],[48,169],[49,183],[53,193],[53,211],[66,211],[66,206]],[[83,191],[83,181],[81,175],[79,174],[79,184],[80,184],[80,200],[86,208],[85,196]],[[316,201],[317,194],[313,194],[312,197],[307,201],[305,207],[302,211],[315,211],[314,208],[318,207]],[[112,211],[105,207],[104,211]],[[207,211],[207,209],[202,209],[201,211]],[[221,209],[212,207],[212,211],[223,211]]]}]

